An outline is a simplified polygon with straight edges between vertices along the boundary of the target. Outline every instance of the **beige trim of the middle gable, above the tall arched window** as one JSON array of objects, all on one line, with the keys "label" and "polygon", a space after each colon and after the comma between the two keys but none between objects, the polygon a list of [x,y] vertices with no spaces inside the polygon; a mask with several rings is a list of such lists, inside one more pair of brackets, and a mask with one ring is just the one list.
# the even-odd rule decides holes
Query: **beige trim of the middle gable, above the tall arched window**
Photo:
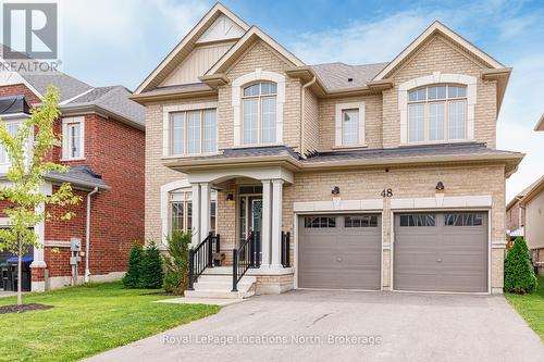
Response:
[{"label": "beige trim of the middle gable, above the tall arched window", "polygon": [[275,41],[271,36],[267,33],[259,29],[257,26],[251,26],[249,30],[244,34],[244,36],[234,45],[231,49],[226,51],[226,53],[221,57],[218,62],[205,73],[203,77],[219,74],[224,72],[234,60],[238,59],[238,57],[244,53],[256,40],[262,40],[268,46],[270,46],[273,50],[275,50],[280,55],[289,61],[294,66],[302,66],[305,63],[295,57],[292,52],[285,49],[282,45]]}]

